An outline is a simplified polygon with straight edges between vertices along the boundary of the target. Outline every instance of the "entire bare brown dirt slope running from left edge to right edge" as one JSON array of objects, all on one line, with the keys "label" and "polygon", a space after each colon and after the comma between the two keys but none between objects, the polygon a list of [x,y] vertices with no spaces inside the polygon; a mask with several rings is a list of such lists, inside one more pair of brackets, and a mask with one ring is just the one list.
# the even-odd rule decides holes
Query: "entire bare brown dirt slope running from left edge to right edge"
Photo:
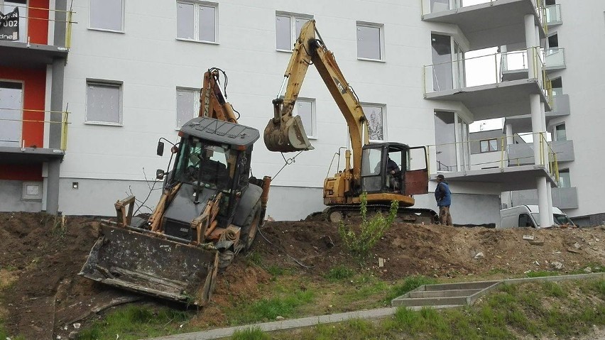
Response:
[{"label": "entire bare brown dirt slope running from left edge to right edge", "polygon": [[[60,231],[45,214],[0,213],[0,318],[10,334],[65,339],[73,323],[132,297],[77,275],[97,238],[98,223],[67,216],[65,231]],[[523,235],[535,236],[538,244],[524,241]],[[570,272],[605,263],[604,240],[604,227],[496,230],[395,224],[366,269],[386,280],[412,274],[470,280],[489,272],[546,270],[553,263]],[[340,243],[337,226],[325,221],[268,222],[254,249],[263,263],[297,268],[300,275],[322,275],[334,265],[356,266]],[[378,268],[378,258],[386,260],[384,267]],[[228,295],[255,297],[258,285],[270,278],[243,258],[220,275],[214,303],[195,318],[204,320],[200,326],[222,324],[219,309],[228,305]],[[246,280],[238,279],[242,277]]]}]

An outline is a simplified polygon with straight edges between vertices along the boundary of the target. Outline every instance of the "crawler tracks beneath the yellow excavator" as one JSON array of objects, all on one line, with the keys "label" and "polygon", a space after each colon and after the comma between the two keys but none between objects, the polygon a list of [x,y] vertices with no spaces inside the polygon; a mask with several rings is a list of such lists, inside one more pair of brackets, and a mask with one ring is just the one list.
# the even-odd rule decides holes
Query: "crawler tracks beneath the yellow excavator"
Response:
[{"label": "crawler tracks beneath the yellow excavator", "polygon": [[[389,204],[368,204],[366,207],[368,209],[366,216],[378,212],[388,214],[391,209]],[[333,205],[322,212],[323,219],[334,223],[360,216],[359,206],[357,205]],[[395,221],[410,224],[437,224],[438,217],[439,215],[432,209],[401,207],[397,210]]]}]

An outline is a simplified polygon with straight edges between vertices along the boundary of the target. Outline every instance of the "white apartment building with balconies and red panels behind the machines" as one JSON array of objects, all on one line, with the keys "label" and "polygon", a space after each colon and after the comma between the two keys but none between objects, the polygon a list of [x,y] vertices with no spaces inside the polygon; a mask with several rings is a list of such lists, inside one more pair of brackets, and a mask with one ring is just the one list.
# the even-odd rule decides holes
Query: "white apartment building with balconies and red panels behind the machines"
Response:
[{"label": "white apartment building with balconies and red panels behind the machines", "polygon": [[[431,177],[447,172],[454,223],[497,223],[502,192],[535,190],[540,209],[552,207],[560,181],[547,143],[536,143],[518,166],[472,165],[469,124],[498,117],[506,119],[507,141],[525,132],[539,140],[545,131],[560,141],[565,131],[572,160],[558,168],[568,170],[577,193],[577,207],[566,212],[590,221],[605,212],[594,199],[602,186],[594,179],[602,137],[593,122],[602,111],[595,77],[605,60],[602,1],[75,0],[70,8],[65,0],[0,0],[3,6],[27,15],[19,40],[0,40],[0,55],[11,56],[0,57],[0,210],[112,215],[116,199],[131,193],[153,208],[160,192],[151,189],[161,186],[154,187],[155,170],[170,159],[156,155],[158,138],[177,141],[180,124],[197,115],[203,73],[227,72],[240,124],[263,131],[298,30],[313,18],[364,105],[371,139],[428,146]],[[30,15],[38,8],[48,9],[45,30]],[[583,46],[588,36],[594,48]],[[466,57],[485,48],[494,53]],[[548,64],[552,48],[565,49],[563,67]],[[349,143],[313,68],[295,113],[315,150],[282,155],[258,141],[253,153],[253,175],[273,177],[267,214],[277,220],[324,209],[323,180],[337,172],[338,159],[343,168],[337,153]],[[31,145],[32,138],[40,141]],[[436,208],[432,194],[415,199],[416,207]]]}]

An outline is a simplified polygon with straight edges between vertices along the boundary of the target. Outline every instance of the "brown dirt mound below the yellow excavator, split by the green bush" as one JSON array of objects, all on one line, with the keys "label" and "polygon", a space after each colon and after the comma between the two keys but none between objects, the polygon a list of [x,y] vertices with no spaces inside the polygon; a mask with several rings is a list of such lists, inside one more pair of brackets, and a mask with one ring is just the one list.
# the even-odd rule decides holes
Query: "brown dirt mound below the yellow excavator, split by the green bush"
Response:
[{"label": "brown dirt mound below the yellow excavator, split by the green bush", "polygon": [[[355,265],[344,249],[337,225],[325,221],[268,222],[262,229],[266,246],[258,246],[265,259],[280,265],[309,267],[315,275],[335,265]],[[533,236],[526,241],[523,236]],[[525,273],[583,270],[605,263],[605,228],[587,229],[486,229],[438,225],[393,224],[377,243],[366,269],[385,279],[406,275],[454,278],[482,273]],[[384,266],[378,267],[378,259]]]}]

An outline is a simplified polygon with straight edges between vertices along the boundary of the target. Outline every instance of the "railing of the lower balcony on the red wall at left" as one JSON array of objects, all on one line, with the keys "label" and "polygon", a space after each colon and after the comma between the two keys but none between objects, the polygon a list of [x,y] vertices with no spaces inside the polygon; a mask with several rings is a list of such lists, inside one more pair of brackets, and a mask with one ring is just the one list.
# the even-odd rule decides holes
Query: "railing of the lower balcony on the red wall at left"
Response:
[{"label": "railing of the lower balcony on the red wall at left", "polygon": [[[46,121],[44,119],[17,119],[14,118],[14,115],[11,113],[19,113],[23,112],[23,114],[61,114],[61,121]],[[4,113],[4,114],[3,114]],[[43,111],[43,110],[30,110],[30,109],[3,109],[0,108],[0,126],[3,126],[3,129],[0,129],[0,133],[4,131],[6,133],[7,130],[16,132],[16,135],[13,136],[21,136],[23,131],[23,126],[28,126],[28,128],[36,129],[43,133],[44,125],[49,124],[50,126],[55,126],[59,124],[60,126],[60,149],[65,151],[67,150],[67,126],[71,124],[69,122],[70,111]],[[19,114],[18,114],[19,115]],[[21,115],[19,115],[21,116]],[[11,126],[12,125],[12,126]],[[50,129],[49,129],[50,130]],[[14,138],[13,136],[1,136],[0,140],[4,141],[5,146],[10,146],[13,144],[15,147],[21,148],[31,148],[32,146],[28,141],[26,141],[23,136]],[[11,138],[12,137],[12,138]],[[42,146],[34,146],[34,147],[42,147]],[[46,146],[45,146],[46,147]],[[48,147],[47,147],[48,148]]]}]

